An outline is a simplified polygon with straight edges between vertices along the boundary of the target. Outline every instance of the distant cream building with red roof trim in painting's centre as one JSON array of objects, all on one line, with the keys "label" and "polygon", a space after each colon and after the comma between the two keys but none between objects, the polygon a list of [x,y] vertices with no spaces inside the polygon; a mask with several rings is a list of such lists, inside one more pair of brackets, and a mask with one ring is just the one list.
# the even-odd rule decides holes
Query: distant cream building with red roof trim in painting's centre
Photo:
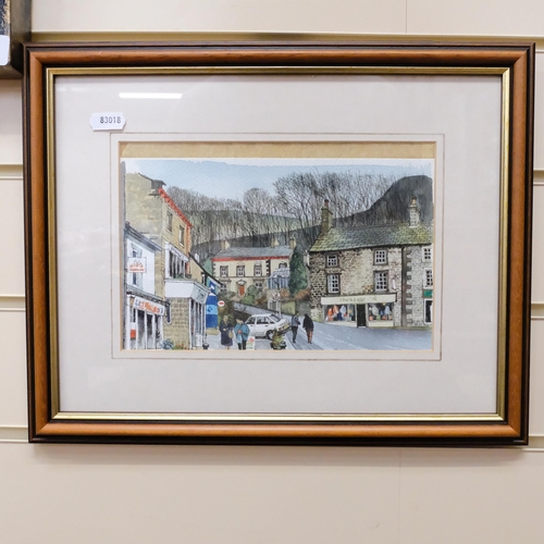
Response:
[{"label": "distant cream building with red roof trim in painting's centre", "polygon": [[[230,247],[228,242],[223,240],[221,251],[211,259],[213,275],[221,281],[225,290],[240,297],[250,285],[258,290],[268,289],[270,282],[273,283],[277,277],[285,281],[285,274],[279,275],[277,271],[288,271],[295,247],[295,238],[289,239],[288,246],[281,246],[277,240],[273,240],[270,247]],[[277,288],[282,287],[283,284],[279,284]]]}]

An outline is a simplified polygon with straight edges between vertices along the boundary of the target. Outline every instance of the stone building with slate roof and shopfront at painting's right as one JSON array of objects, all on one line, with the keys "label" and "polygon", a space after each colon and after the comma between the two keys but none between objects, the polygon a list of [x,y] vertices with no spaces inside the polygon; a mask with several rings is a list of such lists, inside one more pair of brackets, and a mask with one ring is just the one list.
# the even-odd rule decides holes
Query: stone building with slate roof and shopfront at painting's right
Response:
[{"label": "stone building with slate roof and shopfront at painting's right", "polygon": [[309,250],[312,319],[350,326],[430,326],[433,225],[416,199],[409,223],[333,226],[329,201]]}]

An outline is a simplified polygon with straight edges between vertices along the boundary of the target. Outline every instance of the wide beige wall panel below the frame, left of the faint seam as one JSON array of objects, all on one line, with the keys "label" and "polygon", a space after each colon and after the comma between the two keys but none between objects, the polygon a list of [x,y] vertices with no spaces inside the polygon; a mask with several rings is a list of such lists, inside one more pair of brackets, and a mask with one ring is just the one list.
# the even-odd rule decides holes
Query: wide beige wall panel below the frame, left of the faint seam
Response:
[{"label": "wide beige wall panel below the frame, left of the faint seam", "polygon": [[1,455],[10,544],[397,542],[394,449],[7,444]]}]

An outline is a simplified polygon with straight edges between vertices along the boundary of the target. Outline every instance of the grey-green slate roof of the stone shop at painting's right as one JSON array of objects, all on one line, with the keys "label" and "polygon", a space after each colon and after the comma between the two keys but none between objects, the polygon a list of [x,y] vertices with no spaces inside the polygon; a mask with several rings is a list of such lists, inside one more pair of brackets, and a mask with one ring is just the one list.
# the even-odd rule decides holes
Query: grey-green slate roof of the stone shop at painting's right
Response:
[{"label": "grey-green slate roof of the stone shop at painting's right", "polygon": [[318,251],[337,251],[361,247],[425,246],[433,243],[432,223],[420,223],[410,227],[408,224],[367,225],[359,228],[333,227],[326,234],[320,234],[311,254]]}]

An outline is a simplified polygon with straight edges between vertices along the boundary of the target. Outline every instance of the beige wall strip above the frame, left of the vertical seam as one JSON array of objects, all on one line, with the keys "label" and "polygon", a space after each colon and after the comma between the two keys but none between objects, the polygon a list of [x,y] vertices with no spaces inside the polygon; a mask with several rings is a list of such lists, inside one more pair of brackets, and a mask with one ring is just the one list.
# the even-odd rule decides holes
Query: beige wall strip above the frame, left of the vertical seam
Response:
[{"label": "beige wall strip above the frame, left of the vertical seam", "polygon": [[[136,4],[136,5],[135,5]],[[33,32],[404,33],[404,0],[134,0],[33,2]]]}]

